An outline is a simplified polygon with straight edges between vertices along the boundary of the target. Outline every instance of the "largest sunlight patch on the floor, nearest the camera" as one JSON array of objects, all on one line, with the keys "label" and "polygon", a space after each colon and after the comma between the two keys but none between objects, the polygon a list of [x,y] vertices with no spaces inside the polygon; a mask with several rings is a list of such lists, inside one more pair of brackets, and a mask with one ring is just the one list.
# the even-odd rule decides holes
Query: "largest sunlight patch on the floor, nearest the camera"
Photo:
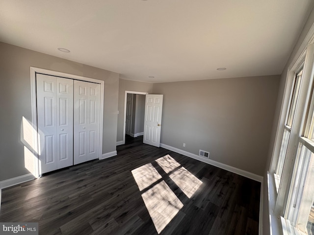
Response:
[{"label": "largest sunlight patch on the floor, nearest the camera", "polygon": [[164,181],[144,192],[142,198],[158,234],[183,207],[182,202]]}]

